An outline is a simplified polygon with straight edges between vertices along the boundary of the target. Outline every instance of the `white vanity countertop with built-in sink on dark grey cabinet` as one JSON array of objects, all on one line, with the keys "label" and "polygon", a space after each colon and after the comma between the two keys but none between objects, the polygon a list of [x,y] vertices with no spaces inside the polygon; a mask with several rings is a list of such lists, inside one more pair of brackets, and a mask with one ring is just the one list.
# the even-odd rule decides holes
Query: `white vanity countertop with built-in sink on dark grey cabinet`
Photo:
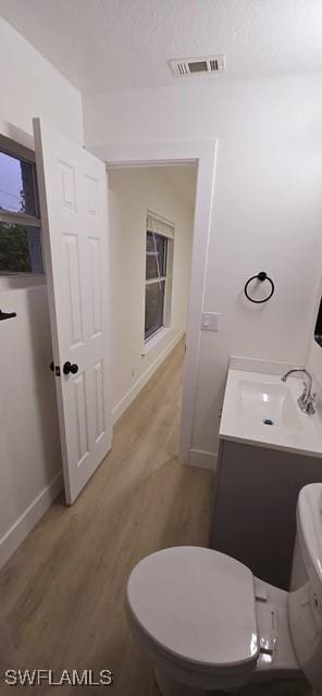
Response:
[{"label": "white vanity countertop with built-in sink on dark grey cabinet", "polygon": [[[322,457],[320,413],[302,413],[297,398],[302,381],[280,375],[230,370],[220,438],[248,445]],[[263,421],[273,424],[264,424]]]}]

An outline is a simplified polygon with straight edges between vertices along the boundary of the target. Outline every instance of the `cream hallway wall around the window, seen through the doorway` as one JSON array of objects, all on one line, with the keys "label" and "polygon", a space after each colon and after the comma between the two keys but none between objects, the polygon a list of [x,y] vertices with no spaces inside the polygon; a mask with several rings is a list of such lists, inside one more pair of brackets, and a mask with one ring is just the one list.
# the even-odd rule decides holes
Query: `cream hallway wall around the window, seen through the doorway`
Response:
[{"label": "cream hallway wall around the window, seen through the doorway", "polygon": [[[171,175],[170,181],[166,174]],[[171,172],[166,167],[109,172],[114,420],[186,328],[194,213],[181,191],[186,174],[186,167],[172,167]],[[191,177],[195,178],[195,171]],[[174,222],[175,238],[171,327],[152,350],[143,355],[147,210]]]}]

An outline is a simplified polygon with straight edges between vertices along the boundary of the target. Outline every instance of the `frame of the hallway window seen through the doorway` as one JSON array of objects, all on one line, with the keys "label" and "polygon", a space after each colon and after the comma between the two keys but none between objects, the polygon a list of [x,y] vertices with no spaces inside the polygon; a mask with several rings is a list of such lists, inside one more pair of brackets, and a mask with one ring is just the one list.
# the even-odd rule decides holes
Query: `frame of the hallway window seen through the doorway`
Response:
[{"label": "frame of the hallway window seen through the doorway", "polygon": [[[173,236],[168,236],[166,234],[162,233],[162,231],[158,231],[154,232],[153,229],[149,229],[148,224],[146,225],[146,243],[145,243],[145,313],[146,313],[146,293],[147,293],[147,286],[148,285],[153,285],[156,283],[164,283],[164,291],[163,291],[163,306],[162,306],[162,323],[160,326],[158,326],[158,328],[156,328],[154,331],[152,331],[151,333],[147,334],[146,332],[146,323],[144,326],[144,345],[145,347],[147,347],[148,343],[153,339],[157,334],[161,333],[164,330],[169,330],[170,327],[170,319],[171,319],[171,300],[172,300],[172,266],[173,266],[173,244],[174,244],[174,225],[173,223],[169,223],[169,221],[163,220],[161,216],[156,215],[154,213],[150,213],[148,211],[148,217],[152,216],[154,220],[160,220],[161,224],[164,222],[165,225],[168,225],[169,227],[171,227],[171,229],[173,231]],[[162,239],[165,240],[165,258],[164,258],[164,265],[165,265],[165,275],[157,275],[156,277],[152,278],[147,278],[147,240],[148,240],[148,234],[152,234],[156,235],[157,237],[162,237]],[[157,269],[158,269],[158,264],[157,264]],[[163,269],[164,270],[164,269]],[[153,341],[152,341],[153,343]]]}]

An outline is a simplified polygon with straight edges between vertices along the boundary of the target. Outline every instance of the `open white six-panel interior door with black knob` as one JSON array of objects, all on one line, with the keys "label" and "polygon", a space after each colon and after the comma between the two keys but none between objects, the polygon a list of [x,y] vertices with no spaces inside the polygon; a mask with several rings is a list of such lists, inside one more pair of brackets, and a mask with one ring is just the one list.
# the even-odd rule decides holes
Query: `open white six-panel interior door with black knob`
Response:
[{"label": "open white six-panel interior door with black knob", "polygon": [[66,501],[111,447],[103,162],[34,119]]}]

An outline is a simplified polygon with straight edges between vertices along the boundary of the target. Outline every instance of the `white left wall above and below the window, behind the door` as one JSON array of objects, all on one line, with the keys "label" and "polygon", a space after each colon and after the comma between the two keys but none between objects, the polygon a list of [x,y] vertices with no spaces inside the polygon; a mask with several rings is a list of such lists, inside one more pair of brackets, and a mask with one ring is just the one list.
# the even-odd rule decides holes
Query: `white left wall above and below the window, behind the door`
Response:
[{"label": "white left wall above and below the window, behind the door", "polygon": [[[0,132],[33,147],[32,119],[44,116],[82,141],[81,96],[0,20]],[[61,453],[46,285],[0,279],[0,566],[61,486]]]}]

